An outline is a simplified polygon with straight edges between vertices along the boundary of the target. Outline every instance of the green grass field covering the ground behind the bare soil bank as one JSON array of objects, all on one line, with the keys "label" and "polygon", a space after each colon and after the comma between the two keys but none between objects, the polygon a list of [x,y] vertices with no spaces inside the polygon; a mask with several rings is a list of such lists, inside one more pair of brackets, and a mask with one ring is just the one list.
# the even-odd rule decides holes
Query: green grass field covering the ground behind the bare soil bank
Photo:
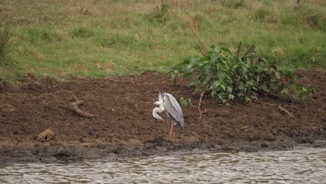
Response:
[{"label": "green grass field covering the ground behind the bare soil bank", "polygon": [[[233,51],[256,44],[258,55],[282,68],[326,66],[326,2],[169,0],[3,0],[0,16],[13,33],[11,62],[0,80],[25,72],[37,77],[109,77],[168,71],[200,54],[192,28],[208,47]],[[189,13],[189,15],[187,15]]]}]

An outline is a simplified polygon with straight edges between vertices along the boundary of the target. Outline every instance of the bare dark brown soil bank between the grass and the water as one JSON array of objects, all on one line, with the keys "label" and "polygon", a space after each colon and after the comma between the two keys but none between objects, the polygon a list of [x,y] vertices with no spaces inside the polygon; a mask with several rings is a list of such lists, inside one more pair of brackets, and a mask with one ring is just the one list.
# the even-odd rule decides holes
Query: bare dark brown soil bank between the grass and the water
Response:
[{"label": "bare dark brown soil bank between the grass and the water", "polygon": [[[286,150],[305,144],[326,147],[326,72],[297,71],[298,82],[313,86],[316,96],[303,102],[261,96],[230,107],[203,98],[198,109],[183,107],[185,130],[152,117],[159,91],[177,99],[191,98],[187,82],[176,86],[166,75],[146,72],[111,79],[35,79],[24,75],[17,84],[0,84],[0,162],[54,162],[114,159],[199,151]],[[84,101],[83,118],[60,107]],[[287,109],[293,118],[279,109]],[[165,117],[163,113],[162,116]],[[39,141],[50,128],[54,139]]]}]

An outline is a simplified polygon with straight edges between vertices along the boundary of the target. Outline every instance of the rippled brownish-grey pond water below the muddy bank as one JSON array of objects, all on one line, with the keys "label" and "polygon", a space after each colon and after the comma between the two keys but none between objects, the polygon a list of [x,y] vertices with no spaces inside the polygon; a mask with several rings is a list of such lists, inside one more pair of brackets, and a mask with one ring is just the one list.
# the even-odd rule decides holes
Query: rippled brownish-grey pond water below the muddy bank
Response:
[{"label": "rippled brownish-grey pond water below the muddy bank", "polygon": [[0,183],[326,183],[326,148],[10,164]]}]

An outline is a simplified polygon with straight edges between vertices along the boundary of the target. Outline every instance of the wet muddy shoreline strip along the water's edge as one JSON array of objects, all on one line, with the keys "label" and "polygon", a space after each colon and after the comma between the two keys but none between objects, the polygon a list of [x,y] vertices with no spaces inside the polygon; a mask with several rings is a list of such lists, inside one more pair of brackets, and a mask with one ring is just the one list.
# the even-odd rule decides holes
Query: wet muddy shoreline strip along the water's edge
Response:
[{"label": "wet muddy shoreline strip along the water's edge", "polygon": [[[201,153],[239,153],[239,152],[265,152],[265,151],[290,151],[300,148],[326,148],[326,141],[316,141],[313,144],[293,143],[266,143],[255,142],[242,145],[166,145],[157,146],[108,146],[108,145],[48,145],[34,148],[2,148],[0,164],[43,162],[43,163],[72,163],[99,160],[118,160],[119,158],[142,158],[155,156],[173,156]],[[10,153],[3,155],[3,153]]]}]

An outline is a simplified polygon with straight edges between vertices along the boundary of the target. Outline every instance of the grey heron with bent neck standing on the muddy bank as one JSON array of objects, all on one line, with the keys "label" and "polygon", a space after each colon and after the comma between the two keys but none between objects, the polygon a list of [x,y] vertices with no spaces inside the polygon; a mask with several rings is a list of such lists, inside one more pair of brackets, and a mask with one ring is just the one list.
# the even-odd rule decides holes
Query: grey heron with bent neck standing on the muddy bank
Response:
[{"label": "grey heron with bent neck standing on the muddy bank", "polygon": [[[185,125],[183,123],[183,110],[181,109],[176,98],[173,97],[170,93],[159,93],[158,101],[154,102],[155,105],[160,105],[159,107],[155,107],[153,109],[153,117],[157,121],[168,122],[171,123],[170,135],[173,131],[173,121],[176,121],[180,128],[183,130]],[[158,115],[158,113],[166,112],[166,121]]]}]

